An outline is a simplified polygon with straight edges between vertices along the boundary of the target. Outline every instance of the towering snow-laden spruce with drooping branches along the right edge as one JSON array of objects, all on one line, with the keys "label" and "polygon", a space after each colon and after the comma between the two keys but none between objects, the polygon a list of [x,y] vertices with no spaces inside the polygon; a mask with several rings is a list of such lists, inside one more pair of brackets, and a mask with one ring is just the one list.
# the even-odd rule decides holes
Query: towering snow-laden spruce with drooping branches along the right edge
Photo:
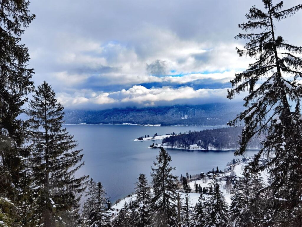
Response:
[{"label": "towering snow-laden spruce with drooping branches along the right edge", "polygon": [[[246,110],[229,124],[244,122],[236,155],[245,153],[252,137],[266,135],[263,149],[250,164],[250,170],[257,173],[268,169],[270,173],[266,191],[274,215],[268,225],[302,225],[302,87],[298,83],[302,77],[302,60],[298,57],[302,48],[286,43],[275,33],[276,22],[293,16],[302,5],[283,9],[283,2],[262,2],[264,10],[250,8],[246,14],[248,22],[239,25],[247,33],[236,36],[248,40],[243,50],[237,49],[239,56],[256,61],[230,81],[233,89],[228,91],[228,98],[246,90],[248,95],[244,98]],[[262,156],[269,160],[259,166]]]}]

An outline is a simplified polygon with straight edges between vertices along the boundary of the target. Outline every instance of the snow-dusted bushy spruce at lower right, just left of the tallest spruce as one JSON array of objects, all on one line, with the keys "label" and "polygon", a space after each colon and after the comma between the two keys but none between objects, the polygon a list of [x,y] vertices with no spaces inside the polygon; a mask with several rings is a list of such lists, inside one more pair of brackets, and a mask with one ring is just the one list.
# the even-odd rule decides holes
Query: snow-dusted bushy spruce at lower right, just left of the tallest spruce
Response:
[{"label": "snow-dusted bushy spruce at lower right, just left of the tallest spruce", "polygon": [[265,199],[262,178],[244,173],[235,182],[231,195],[230,226],[258,226],[263,218]]}]

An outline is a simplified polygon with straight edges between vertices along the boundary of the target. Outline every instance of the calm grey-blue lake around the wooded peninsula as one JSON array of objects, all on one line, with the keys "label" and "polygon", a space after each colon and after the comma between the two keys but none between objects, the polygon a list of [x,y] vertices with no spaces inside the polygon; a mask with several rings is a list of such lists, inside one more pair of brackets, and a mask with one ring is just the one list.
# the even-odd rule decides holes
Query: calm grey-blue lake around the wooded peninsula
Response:
[{"label": "calm grey-blue lake around the wooded peninsula", "polygon": [[[80,174],[101,181],[111,202],[134,192],[134,183],[140,173],[150,179],[151,166],[159,149],[150,149],[153,141],[133,141],[144,135],[184,133],[217,127],[142,127],[137,125],[66,125],[67,130],[83,149],[85,166]],[[156,140],[154,143],[161,143]],[[168,149],[174,174],[185,176],[207,172],[212,168],[223,170],[235,156],[234,151],[188,151]],[[248,151],[252,156],[256,151]]]}]

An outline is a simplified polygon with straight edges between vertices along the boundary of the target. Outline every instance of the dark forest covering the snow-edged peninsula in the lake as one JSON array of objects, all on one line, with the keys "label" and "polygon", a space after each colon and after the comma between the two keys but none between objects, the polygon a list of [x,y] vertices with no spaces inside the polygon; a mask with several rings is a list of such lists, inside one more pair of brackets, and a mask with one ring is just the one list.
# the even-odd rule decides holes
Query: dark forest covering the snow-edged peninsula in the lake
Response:
[{"label": "dark forest covering the snow-edged peninsula in the lake", "polygon": [[[197,144],[204,149],[230,149],[239,147],[239,135],[241,127],[226,127],[218,129],[207,129],[199,132],[185,133],[164,138],[162,144],[177,148],[190,148]],[[260,148],[261,137],[254,137],[249,142],[252,148]]]}]

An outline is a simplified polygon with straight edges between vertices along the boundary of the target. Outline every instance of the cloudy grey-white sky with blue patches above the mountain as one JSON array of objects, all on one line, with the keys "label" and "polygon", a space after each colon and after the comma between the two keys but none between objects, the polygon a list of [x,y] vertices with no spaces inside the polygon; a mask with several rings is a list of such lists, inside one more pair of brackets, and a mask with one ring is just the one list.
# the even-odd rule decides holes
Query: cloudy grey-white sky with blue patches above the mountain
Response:
[{"label": "cloudy grey-white sky with blue patches above the mountain", "polygon": [[[252,5],[262,8],[260,0],[32,0],[36,19],[21,43],[35,86],[47,81],[67,109],[227,102],[228,81],[253,62],[239,58],[244,41],[234,38]],[[275,31],[301,46],[301,22],[298,12]]]}]

